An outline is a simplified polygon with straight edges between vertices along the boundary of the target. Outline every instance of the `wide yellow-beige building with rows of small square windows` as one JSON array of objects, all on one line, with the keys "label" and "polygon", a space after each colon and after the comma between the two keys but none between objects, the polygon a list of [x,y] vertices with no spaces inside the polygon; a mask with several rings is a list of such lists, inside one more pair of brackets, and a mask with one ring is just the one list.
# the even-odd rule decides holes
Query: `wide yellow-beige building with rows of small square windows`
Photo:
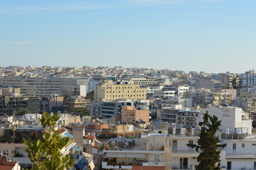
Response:
[{"label": "wide yellow-beige building with rows of small square windows", "polygon": [[140,85],[130,84],[130,82],[112,82],[108,81],[96,84],[94,91],[94,100],[104,99],[114,101],[119,98],[130,98],[133,100],[145,100],[146,89],[140,88]]}]

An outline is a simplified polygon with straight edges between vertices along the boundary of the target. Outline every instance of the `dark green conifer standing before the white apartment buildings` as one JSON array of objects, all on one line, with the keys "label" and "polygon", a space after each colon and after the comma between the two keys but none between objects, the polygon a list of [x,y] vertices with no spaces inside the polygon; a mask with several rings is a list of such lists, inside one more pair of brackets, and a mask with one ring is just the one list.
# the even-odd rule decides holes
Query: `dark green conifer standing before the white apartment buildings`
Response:
[{"label": "dark green conifer standing before the white apartment buildings", "polygon": [[221,169],[221,149],[226,147],[226,144],[220,145],[221,140],[215,136],[216,132],[221,126],[221,120],[218,120],[216,115],[209,115],[208,112],[204,114],[203,121],[199,123],[201,131],[199,140],[196,144],[187,144],[188,147],[196,149],[199,152],[197,161],[199,165],[196,170],[217,170]]}]

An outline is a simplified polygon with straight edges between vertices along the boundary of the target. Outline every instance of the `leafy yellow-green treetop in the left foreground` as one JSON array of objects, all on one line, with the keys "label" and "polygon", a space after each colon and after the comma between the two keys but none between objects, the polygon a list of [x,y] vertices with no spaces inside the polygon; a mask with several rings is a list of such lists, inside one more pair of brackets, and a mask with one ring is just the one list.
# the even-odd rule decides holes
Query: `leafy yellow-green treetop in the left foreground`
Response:
[{"label": "leafy yellow-green treetop in the left foreground", "polygon": [[69,142],[69,138],[62,137],[55,130],[57,120],[59,120],[60,114],[53,115],[52,113],[44,113],[44,116],[40,119],[45,133],[42,140],[30,142],[30,139],[26,140],[28,149],[28,157],[34,162],[34,168],[37,170],[69,169],[74,163],[74,159],[71,159],[69,155],[62,155],[60,149],[65,147]]}]

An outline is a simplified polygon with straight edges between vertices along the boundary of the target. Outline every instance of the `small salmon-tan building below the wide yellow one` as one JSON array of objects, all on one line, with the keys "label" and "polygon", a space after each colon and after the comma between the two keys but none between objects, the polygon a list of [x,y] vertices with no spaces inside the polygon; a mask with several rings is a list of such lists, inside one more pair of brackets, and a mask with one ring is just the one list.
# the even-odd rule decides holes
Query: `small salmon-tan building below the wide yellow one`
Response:
[{"label": "small salmon-tan building below the wide yellow one", "polygon": [[122,106],[121,109],[122,122],[129,120],[144,120],[145,123],[149,123],[149,110],[141,109],[137,110],[135,106]]}]

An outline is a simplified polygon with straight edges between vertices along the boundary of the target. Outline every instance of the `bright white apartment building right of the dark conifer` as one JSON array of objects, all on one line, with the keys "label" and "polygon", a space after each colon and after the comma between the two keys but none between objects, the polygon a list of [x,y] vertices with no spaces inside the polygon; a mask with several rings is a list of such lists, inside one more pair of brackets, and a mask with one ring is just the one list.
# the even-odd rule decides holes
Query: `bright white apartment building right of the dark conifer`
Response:
[{"label": "bright white apartment building right of the dark conifer", "polygon": [[[205,110],[201,111],[205,113]],[[237,107],[209,107],[209,115],[221,120],[219,136],[227,147],[221,153],[221,165],[227,170],[256,169],[256,136],[252,134],[249,114]]]}]

